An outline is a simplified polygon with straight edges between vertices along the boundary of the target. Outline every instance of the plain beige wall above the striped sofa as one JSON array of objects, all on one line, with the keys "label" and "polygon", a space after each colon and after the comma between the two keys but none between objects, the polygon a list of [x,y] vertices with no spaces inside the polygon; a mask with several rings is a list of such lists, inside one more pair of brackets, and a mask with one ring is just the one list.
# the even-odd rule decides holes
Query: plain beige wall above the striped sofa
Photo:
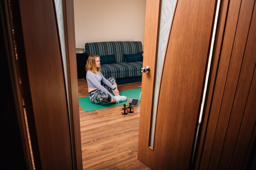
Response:
[{"label": "plain beige wall above the striped sofa", "polygon": [[141,41],[146,0],[74,0],[76,48],[86,42]]}]

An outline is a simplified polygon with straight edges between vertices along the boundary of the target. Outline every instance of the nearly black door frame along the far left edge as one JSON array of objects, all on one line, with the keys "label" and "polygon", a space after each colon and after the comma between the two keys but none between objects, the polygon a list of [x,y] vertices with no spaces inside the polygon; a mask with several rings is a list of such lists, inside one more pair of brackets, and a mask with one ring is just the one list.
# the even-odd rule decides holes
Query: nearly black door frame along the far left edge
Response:
[{"label": "nearly black door frame along the far left edge", "polygon": [[[11,33],[11,20],[9,16],[9,4],[7,1],[0,2],[0,41],[1,54],[4,56],[1,61],[2,82],[1,102],[3,113],[0,117],[2,133],[1,168],[33,170],[30,157],[29,142],[25,117],[22,107],[22,94],[19,85],[18,70],[16,68],[16,57],[14,53],[13,37]],[[13,163],[13,153],[18,158]]]}]

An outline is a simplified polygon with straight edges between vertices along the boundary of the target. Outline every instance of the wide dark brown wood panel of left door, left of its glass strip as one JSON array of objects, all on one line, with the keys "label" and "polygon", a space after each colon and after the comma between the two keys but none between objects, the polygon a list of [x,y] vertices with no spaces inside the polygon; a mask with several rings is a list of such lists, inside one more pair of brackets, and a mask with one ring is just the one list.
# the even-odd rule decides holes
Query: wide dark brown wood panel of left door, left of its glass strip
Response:
[{"label": "wide dark brown wood panel of left door, left of its glass strip", "polygon": [[[54,1],[19,1],[17,4],[20,15],[15,16],[20,16],[20,25],[15,28],[22,31],[16,35],[18,61],[35,167],[39,170],[72,169],[70,124]],[[15,19],[17,24],[19,18]]]}]

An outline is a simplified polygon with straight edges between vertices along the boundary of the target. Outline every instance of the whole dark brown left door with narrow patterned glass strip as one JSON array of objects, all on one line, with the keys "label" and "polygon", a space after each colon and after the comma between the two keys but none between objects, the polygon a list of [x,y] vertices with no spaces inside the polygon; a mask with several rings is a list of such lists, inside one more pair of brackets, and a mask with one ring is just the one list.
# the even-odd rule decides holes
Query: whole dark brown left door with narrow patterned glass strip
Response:
[{"label": "whole dark brown left door with narrow patterned glass strip", "polygon": [[9,2],[18,54],[16,85],[22,90],[37,170],[82,169],[74,7],[72,0],[58,2],[63,4],[58,17],[54,0]]}]

